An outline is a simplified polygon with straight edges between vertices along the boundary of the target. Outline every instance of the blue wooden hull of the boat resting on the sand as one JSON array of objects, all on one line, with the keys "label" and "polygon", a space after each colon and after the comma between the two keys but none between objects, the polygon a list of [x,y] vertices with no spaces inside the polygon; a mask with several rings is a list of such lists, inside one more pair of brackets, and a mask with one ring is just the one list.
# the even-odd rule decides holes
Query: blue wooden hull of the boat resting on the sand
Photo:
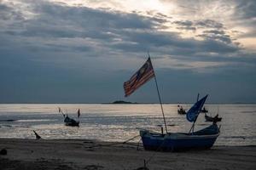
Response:
[{"label": "blue wooden hull of the boat resting on the sand", "polygon": [[[204,130],[204,129],[203,129]],[[140,135],[143,140],[145,150],[188,150],[188,149],[209,149],[212,147],[218,133],[150,133],[147,130],[141,130]]]}]

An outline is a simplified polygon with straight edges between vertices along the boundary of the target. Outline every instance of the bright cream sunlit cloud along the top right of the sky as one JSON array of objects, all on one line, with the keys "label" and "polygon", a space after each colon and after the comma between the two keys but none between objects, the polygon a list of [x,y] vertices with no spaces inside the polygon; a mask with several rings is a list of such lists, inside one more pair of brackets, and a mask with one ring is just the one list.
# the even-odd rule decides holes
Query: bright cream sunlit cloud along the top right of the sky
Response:
[{"label": "bright cream sunlit cloud along the top right of the sky", "polygon": [[[243,26],[247,23],[244,12],[249,10],[252,13],[253,1],[244,3],[236,1],[165,1],[165,0],[148,0],[148,1],[83,1],[83,0],[52,0],[51,2],[63,3],[68,6],[84,6],[89,8],[102,8],[106,10],[116,10],[124,13],[137,13],[144,16],[151,16],[159,19],[165,19],[166,22],[157,26],[160,31],[177,31],[183,38],[195,37],[202,40],[201,33],[209,29],[221,29],[229,32],[229,37],[233,42],[242,43],[243,48],[247,48],[255,53],[256,46],[254,38],[250,40],[241,40],[240,37],[232,34],[232,31],[243,33],[251,32],[250,28]],[[243,5],[241,5],[243,4]],[[216,27],[209,25],[201,26],[202,22],[212,20]],[[242,20],[241,20],[242,19]],[[254,20],[255,16],[251,20]],[[190,23],[190,26],[181,26],[183,23]],[[217,26],[221,26],[218,27]],[[176,25],[176,26],[175,26]],[[247,24],[246,24],[247,25]]]}]

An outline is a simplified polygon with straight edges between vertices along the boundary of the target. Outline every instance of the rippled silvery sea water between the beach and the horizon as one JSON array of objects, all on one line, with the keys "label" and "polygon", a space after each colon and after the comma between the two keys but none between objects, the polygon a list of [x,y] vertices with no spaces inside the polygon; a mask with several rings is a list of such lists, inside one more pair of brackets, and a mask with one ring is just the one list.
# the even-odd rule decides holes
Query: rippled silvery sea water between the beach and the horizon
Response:
[{"label": "rippled silvery sea water between the beach and the horizon", "polygon": [[[163,105],[169,132],[189,132],[191,126],[177,105]],[[191,105],[183,105],[189,109]],[[66,127],[58,107],[77,119],[80,127]],[[214,116],[222,116],[218,145],[256,145],[256,105],[206,105]],[[217,109],[218,108],[218,109]],[[0,138],[34,139],[36,130],[44,139],[102,139],[124,141],[138,134],[137,128],[160,132],[160,105],[0,105]],[[204,114],[195,130],[207,127]]]}]

